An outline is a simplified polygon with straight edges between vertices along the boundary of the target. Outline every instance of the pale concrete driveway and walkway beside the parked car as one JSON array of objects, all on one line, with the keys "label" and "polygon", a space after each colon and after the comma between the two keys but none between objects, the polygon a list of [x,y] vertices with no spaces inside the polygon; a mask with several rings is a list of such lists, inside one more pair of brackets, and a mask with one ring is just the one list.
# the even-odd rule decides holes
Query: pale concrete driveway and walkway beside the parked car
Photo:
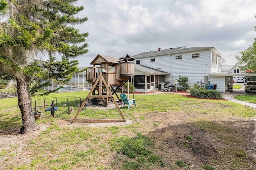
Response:
[{"label": "pale concrete driveway and walkway beside the parked car", "polygon": [[244,91],[244,83],[233,83],[233,84],[241,85],[242,87],[241,87],[241,89],[233,89],[233,91],[231,93],[222,93],[223,98],[228,101],[232,101],[232,102],[239,103],[241,105],[245,105],[245,106],[252,107],[252,108],[256,109],[256,104],[249,103],[246,101],[241,101],[241,100],[234,98],[234,96],[236,96],[236,95],[256,95],[256,93],[246,93]]}]

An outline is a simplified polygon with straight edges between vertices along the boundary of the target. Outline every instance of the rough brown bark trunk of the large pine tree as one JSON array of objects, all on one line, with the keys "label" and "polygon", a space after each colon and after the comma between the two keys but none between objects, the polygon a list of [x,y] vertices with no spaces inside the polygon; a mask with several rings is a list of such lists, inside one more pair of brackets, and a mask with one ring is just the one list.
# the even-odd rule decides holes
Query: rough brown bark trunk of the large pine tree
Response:
[{"label": "rough brown bark trunk of the large pine tree", "polygon": [[28,83],[25,76],[16,78],[17,92],[18,92],[18,105],[22,116],[22,128],[20,133],[25,134],[32,132],[38,127],[35,123],[34,113],[31,107],[31,99],[28,91]]}]

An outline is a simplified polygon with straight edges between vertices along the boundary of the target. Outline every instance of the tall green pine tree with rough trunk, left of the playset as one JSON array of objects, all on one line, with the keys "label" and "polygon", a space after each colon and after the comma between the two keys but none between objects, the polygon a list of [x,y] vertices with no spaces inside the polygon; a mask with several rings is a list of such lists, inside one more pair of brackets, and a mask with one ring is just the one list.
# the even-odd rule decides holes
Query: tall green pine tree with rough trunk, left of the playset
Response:
[{"label": "tall green pine tree with rough trunk, left of the playset", "polygon": [[[3,0],[1,0],[2,3]],[[80,33],[73,26],[82,24],[88,19],[75,18],[74,15],[84,9],[76,7],[77,0],[9,0],[8,21],[0,23],[0,76],[15,78],[18,92],[18,105],[22,115],[22,128],[20,133],[32,132],[37,128],[31,107],[29,82],[31,79],[40,79],[44,73],[37,70],[31,61],[40,60],[40,56],[49,55],[53,59],[54,54],[62,55],[64,65],[72,66],[76,58],[87,53],[85,42],[88,33]],[[4,14],[5,8],[1,7],[0,14]],[[6,3],[4,3],[6,6]],[[58,63],[58,62],[57,62]],[[60,63],[55,65],[61,65]],[[50,64],[50,63],[48,63]],[[74,65],[77,64],[74,61]],[[64,66],[62,65],[62,66]],[[47,68],[51,68],[47,66]],[[75,67],[65,68],[62,71],[62,81],[70,77]],[[32,77],[31,71],[37,70],[38,77]],[[67,75],[65,74],[67,72]],[[50,74],[49,74],[50,73]],[[47,72],[48,78],[54,77],[52,71]],[[38,86],[39,87],[39,86]]]}]

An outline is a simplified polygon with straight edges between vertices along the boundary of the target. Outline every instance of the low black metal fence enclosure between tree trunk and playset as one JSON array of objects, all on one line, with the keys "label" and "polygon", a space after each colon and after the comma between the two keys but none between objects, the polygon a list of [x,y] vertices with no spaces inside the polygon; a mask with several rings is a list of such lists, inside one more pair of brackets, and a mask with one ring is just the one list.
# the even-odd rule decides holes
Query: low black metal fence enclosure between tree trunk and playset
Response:
[{"label": "low black metal fence enclosure between tree trunk and playset", "polygon": [[[54,117],[61,117],[76,113],[84,102],[81,97],[51,97],[32,101],[32,109],[36,114],[40,113],[40,119],[51,117],[52,101],[54,104]],[[85,106],[84,106],[85,107]]]}]

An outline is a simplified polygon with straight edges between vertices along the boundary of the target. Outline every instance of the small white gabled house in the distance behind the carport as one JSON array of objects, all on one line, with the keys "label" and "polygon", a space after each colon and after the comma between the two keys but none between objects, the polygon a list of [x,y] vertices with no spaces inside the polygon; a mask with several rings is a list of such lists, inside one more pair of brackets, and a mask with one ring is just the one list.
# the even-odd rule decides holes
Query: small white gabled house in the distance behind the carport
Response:
[{"label": "small white gabled house in the distance behind the carport", "polygon": [[245,71],[242,71],[237,64],[235,64],[235,65],[220,65],[220,73],[237,74],[237,76],[233,76],[234,82],[237,83],[238,79],[244,79],[244,76],[240,76],[240,75],[244,74]]}]

